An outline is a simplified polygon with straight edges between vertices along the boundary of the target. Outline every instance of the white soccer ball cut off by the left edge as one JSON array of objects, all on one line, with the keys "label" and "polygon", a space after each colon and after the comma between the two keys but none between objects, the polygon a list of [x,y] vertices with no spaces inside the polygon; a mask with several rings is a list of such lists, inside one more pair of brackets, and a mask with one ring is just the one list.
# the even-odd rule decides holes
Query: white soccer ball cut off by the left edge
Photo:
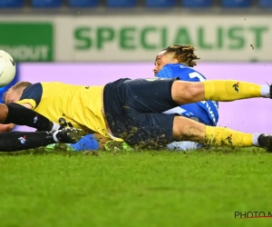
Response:
[{"label": "white soccer ball cut off by the left edge", "polygon": [[0,87],[10,84],[15,78],[15,60],[10,54],[0,50]]}]

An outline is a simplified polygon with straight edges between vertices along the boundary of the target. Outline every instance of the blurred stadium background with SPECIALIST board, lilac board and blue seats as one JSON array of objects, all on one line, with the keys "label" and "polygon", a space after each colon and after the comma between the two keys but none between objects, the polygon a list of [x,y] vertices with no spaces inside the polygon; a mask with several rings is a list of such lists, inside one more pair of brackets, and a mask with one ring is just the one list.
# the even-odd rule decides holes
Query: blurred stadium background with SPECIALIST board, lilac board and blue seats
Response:
[{"label": "blurred stadium background with SPECIALIST board, lilac board and blue seats", "polygon": [[[162,48],[193,44],[209,79],[266,84],[271,13],[272,0],[0,0],[0,49],[15,57],[14,83],[151,77]],[[267,102],[220,104],[219,124],[272,133]]]}]

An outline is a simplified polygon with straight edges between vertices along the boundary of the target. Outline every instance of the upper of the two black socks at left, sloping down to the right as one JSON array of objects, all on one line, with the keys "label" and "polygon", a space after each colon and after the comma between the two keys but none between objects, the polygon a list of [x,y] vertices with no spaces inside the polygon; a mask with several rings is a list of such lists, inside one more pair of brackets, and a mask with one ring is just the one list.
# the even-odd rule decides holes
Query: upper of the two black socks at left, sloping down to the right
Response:
[{"label": "upper of the two black socks at left, sloping down to the right", "polygon": [[[36,128],[38,131],[51,131],[55,124],[41,114],[25,108],[21,104],[6,104],[8,113],[4,123],[15,123]],[[57,128],[55,129],[57,130]]]}]

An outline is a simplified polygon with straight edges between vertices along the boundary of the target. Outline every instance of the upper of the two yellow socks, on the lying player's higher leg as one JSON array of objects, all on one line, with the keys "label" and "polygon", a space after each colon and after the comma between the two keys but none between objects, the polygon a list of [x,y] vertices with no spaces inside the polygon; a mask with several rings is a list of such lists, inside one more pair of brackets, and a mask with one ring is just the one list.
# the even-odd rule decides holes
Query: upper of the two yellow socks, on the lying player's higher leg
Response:
[{"label": "upper of the two yellow socks, on the lying player's higher leg", "polygon": [[261,85],[247,82],[238,82],[233,80],[209,80],[203,83],[205,89],[205,100],[233,101],[266,95],[262,94],[263,87]]}]

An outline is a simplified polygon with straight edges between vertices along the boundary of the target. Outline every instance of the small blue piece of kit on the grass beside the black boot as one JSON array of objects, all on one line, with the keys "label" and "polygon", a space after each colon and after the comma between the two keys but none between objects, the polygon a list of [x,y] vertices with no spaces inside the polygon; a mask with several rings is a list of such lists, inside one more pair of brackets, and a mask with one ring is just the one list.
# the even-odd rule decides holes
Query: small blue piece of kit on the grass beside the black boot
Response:
[{"label": "small blue piece of kit on the grass beside the black boot", "polygon": [[87,134],[77,143],[70,145],[73,147],[74,152],[99,150],[100,147],[98,141],[94,138],[93,134]]}]

